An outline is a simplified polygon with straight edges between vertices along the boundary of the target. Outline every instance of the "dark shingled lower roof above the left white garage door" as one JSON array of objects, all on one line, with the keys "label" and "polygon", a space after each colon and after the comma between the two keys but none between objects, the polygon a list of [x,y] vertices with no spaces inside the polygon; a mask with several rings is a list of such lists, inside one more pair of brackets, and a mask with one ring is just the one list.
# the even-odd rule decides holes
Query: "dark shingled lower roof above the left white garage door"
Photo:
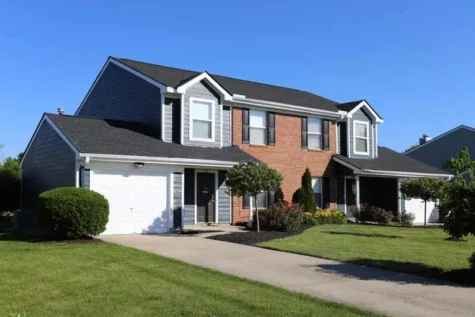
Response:
[{"label": "dark shingled lower roof above the left white garage door", "polygon": [[224,162],[257,161],[231,146],[205,148],[163,142],[149,127],[136,122],[47,113],[46,116],[80,153],[189,158]]}]

